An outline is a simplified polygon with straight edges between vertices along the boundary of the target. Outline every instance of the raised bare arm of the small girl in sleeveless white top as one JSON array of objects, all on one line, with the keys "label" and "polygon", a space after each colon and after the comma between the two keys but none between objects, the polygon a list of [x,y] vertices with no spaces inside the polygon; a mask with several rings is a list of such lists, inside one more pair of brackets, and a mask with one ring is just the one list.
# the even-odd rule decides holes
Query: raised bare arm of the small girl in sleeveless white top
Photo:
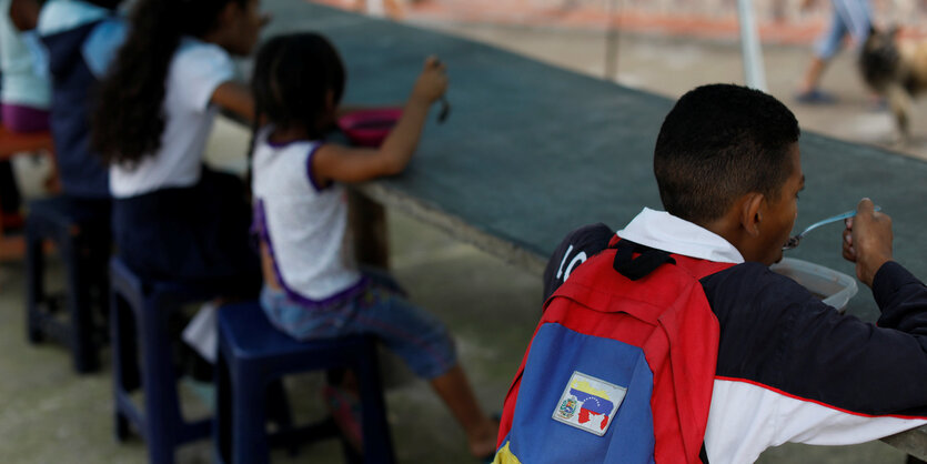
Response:
[{"label": "raised bare arm of the small girl in sleeveless white top", "polygon": [[331,180],[363,182],[402,172],[419,144],[429,108],[446,89],[444,64],[434,57],[429,58],[405,103],[402,118],[380,149],[323,145],[312,160],[312,171],[316,181],[322,184]]}]

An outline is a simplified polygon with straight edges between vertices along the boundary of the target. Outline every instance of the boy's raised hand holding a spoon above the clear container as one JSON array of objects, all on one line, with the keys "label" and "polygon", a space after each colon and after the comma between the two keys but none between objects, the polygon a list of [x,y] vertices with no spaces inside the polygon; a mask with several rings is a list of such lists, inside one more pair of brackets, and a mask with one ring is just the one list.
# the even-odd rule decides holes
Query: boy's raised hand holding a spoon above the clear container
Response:
[{"label": "boy's raised hand holding a spoon above the clear container", "polygon": [[891,261],[891,218],[874,211],[873,201],[863,199],[856,216],[846,220],[844,259],[856,263],[856,276],[873,286],[876,272]]}]

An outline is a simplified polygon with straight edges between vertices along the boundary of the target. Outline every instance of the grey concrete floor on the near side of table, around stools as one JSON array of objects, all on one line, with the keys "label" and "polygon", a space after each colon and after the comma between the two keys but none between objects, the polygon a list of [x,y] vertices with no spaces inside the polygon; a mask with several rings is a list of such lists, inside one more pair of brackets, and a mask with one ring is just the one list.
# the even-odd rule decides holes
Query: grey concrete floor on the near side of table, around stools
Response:
[{"label": "grey concrete floor on the near side of table, around stools", "polygon": [[[486,411],[498,411],[536,323],[538,280],[400,214],[391,214],[390,230],[396,278],[414,301],[453,329],[477,397]],[[27,343],[23,275],[20,263],[0,266],[0,462],[144,462],[140,440],[113,440],[108,356],[102,372],[78,376],[63,347]],[[386,400],[400,462],[436,462],[435,453],[442,456],[437,462],[472,462],[462,432],[436,395],[397,363],[387,360],[394,386]],[[320,376],[306,375],[289,384],[298,416],[318,416],[320,383]],[[201,413],[200,399],[184,393],[184,411]],[[179,462],[211,462],[209,446],[205,441],[185,446]],[[339,454],[330,442],[305,447],[295,460],[278,453],[274,462],[339,462]]]}]

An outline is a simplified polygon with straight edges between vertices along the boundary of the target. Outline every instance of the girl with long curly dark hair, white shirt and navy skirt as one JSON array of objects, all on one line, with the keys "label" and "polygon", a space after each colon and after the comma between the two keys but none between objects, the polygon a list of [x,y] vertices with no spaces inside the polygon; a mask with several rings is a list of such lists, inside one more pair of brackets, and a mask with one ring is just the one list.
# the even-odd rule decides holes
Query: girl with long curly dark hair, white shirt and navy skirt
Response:
[{"label": "girl with long curly dark hair, white shirt and navy skirt", "polygon": [[144,278],[254,294],[243,183],[202,164],[220,108],[253,115],[231,54],[249,54],[259,0],[140,0],[100,89],[92,144],[110,164],[119,254]]}]

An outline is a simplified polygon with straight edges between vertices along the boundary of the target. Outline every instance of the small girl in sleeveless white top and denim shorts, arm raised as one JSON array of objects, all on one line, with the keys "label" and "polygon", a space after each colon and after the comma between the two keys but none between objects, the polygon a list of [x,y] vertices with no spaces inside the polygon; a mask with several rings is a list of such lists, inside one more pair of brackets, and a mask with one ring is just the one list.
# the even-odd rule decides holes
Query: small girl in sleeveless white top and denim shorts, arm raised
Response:
[{"label": "small girl in sleeveless white top and denim shorts, arm raised", "polygon": [[[491,456],[498,424],[483,413],[446,327],[413,305],[384,275],[362,272],[345,250],[345,182],[397,174],[412,159],[431,104],[447,78],[435,58],[412,89],[402,118],[379,149],[322,141],[344,89],[344,67],[314,33],[272,39],[252,79],[255,226],[261,236],[261,304],[276,327],[299,340],[374,334],[449,406],[471,453]],[[349,436],[350,437],[350,436]]]}]

